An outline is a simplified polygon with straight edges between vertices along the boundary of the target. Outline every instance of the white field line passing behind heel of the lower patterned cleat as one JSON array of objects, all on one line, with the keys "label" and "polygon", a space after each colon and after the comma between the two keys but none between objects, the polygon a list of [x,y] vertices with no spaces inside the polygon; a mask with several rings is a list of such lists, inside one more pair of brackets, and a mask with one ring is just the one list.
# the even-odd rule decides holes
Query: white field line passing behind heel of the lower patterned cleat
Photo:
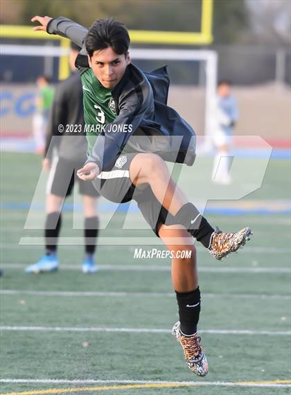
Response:
[{"label": "white field line passing behind heel of the lower patterned cleat", "polygon": [[[76,326],[0,326],[4,331],[40,331],[40,332],[106,332],[106,333],[172,333],[169,329],[151,328],[82,328]],[[290,336],[291,330],[231,330],[231,329],[202,329],[199,333],[210,333],[212,335],[270,335]]]}]

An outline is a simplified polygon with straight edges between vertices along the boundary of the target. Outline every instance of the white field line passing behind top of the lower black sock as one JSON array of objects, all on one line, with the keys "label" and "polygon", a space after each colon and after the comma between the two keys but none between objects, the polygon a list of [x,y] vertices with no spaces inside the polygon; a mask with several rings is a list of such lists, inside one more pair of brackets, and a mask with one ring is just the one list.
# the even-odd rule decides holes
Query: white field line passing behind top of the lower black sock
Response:
[{"label": "white field line passing behind top of the lower black sock", "polygon": [[[173,298],[174,293],[170,292],[80,292],[80,291],[30,291],[27,289],[0,289],[0,295],[30,295],[30,296],[61,296],[61,297],[169,297]],[[291,295],[266,295],[266,294],[203,294],[203,299],[261,299],[261,300],[283,300],[290,301]]]}]

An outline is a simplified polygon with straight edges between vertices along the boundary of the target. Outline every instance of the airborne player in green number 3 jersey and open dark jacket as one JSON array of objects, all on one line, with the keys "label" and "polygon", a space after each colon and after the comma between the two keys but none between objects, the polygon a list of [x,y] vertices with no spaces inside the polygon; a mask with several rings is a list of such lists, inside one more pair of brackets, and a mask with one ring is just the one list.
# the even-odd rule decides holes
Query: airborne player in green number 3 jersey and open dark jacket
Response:
[{"label": "airborne player in green number 3 jersey and open dark jacket", "polygon": [[82,47],[76,66],[89,129],[88,158],[78,176],[93,181],[110,201],[136,200],[143,217],[170,251],[191,251],[191,258],[174,254],[172,260],[179,306],[173,335],[182,345],[191,371],[205,376],[209,365],[197,335],[200,289],[193,237],[220,260],[243,246],[252,231],[214,230],[170,177],[165,160],[193,164],[195,133],[166,105],[166,68],[147,74],[130,62],[130,36],[121,22],[98,19],[88,30],[65,17],[35,16],[31,20],[40,24],[35,31],[68,37]]}]

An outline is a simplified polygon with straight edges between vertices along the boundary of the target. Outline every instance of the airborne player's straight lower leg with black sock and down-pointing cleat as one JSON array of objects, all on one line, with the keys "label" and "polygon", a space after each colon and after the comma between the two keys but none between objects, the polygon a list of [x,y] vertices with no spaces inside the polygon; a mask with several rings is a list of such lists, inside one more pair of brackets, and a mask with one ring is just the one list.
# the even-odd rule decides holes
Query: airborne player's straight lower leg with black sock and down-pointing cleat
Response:
[{"label": "airborne player's straight lower leg with black sock and down-pointing cleat", "polygon": [[[208,362],[197,335],[200,289],[193,239],[183,226],[177,225],[160,225],[159,237],[173,253],[171,274],[179,306],[179,321],[173,326],[173,335],[183,348],[189,369],[197,376],[206,376]],[[177,239],[181,244],[175,244]]]}]

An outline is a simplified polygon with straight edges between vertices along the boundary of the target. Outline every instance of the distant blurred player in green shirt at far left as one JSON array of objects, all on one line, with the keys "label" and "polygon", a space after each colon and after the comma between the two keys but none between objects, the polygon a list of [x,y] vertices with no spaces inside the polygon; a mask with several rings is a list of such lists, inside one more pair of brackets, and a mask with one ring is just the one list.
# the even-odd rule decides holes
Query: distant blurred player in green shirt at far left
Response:
[{"label": "distant blurred player in green shirt at far left", "polygon": [[36,83],[38,94],[36,98],[36,110],[33,115],[33,138],[35,140],[35,152],[44,153],[45,131],[55,90],[50,85],[46,76],[39,76]]}]

